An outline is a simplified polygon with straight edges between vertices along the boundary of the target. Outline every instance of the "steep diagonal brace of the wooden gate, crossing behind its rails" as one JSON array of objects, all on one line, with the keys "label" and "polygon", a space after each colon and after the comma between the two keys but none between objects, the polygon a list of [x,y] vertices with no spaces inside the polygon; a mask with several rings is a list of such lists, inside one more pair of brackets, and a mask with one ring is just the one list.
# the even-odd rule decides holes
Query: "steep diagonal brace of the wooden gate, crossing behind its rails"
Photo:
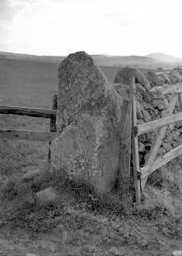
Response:
[{"label": "steep diagonal brace of the wooden gate, crossing behind its rails", "polygon": [[[174,94],[174,96],[171,99],[171,102],[170,102],[170,104],[168,106],[168,109],[166,109],[164,111],[164,115],[171,115],[172,114],[172,112],[174,110],[174,107],[176,105],[176,102],[177,102],[177,97],[178,97],[178,95]],[[152,143],[152,147],[151,147],[151,149],[150,149],[150,151],[148,153],[148,157],[145,160],[144,167],[145,166],[151,166],[152,167],[152,164],[153,164],[153,162],[155,160],[155,157],[158,154],[158,148],[160,147],[161,141],[164,138],[164,134],[165,134],[166,129],[167,129],[167,126],[164,126],[164,127],[158,129],[157,134],[155,136],[155,139],[154,139],[154,141]],[[145,183],[146,183],[147,179],[148,179],[148,177],[146,176],[145,178],[143,178],[141,180],[141,188],[142,188],[142,190],[145,187]]]}]

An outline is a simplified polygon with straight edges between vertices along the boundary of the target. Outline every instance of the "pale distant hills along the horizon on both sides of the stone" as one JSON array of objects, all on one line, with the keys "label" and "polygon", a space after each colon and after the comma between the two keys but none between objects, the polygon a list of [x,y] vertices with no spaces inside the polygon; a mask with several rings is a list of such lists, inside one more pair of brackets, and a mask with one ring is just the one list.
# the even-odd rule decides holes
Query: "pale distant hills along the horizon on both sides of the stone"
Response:
[{"label": "pale distant hills along the horizon on both sides of the stone", "polygon": [[[156,55],[157,54],[157,55]],[[159,54],[159,55],[158,55]],[[177,63],[182,59],[176,58],[175,61],[169,62],[167,60],[158,60],[155,57],[159,58],[159,56],[168,56],[163,53],[152,53],[147,56],[110,56],[104,54],[95,54],[91,55],[94,62],[98,66],[131,66],[136,69],[144,68],[144,69],[157,69],[158,67],[162,68],[173,68],[177,66]],[[175,58],[175,57],[172,57]],[[47,63],[61,63],[62,60],[65,59],[65,56],[36,56],[30,54],[22,54],[22,53],[6,53],[0,52],[0,59],[4,60],[32,60],[32,61],[40,61]]]}]

